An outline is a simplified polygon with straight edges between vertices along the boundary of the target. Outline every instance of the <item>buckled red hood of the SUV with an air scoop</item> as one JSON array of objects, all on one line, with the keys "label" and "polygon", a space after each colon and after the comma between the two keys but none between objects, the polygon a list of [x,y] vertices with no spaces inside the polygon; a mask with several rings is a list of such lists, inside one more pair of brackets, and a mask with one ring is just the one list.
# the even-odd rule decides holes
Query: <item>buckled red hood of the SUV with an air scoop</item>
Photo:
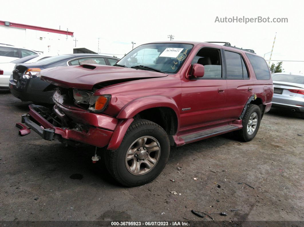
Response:
[{"label": "buckled red hood of the SUV with an air scoop", "polygon": [[92,90],[95,84],[106,81],[165,76],[168,74],[142,69],[109,65],[78,65],[44,69],[40,78],[59,87]]}]

